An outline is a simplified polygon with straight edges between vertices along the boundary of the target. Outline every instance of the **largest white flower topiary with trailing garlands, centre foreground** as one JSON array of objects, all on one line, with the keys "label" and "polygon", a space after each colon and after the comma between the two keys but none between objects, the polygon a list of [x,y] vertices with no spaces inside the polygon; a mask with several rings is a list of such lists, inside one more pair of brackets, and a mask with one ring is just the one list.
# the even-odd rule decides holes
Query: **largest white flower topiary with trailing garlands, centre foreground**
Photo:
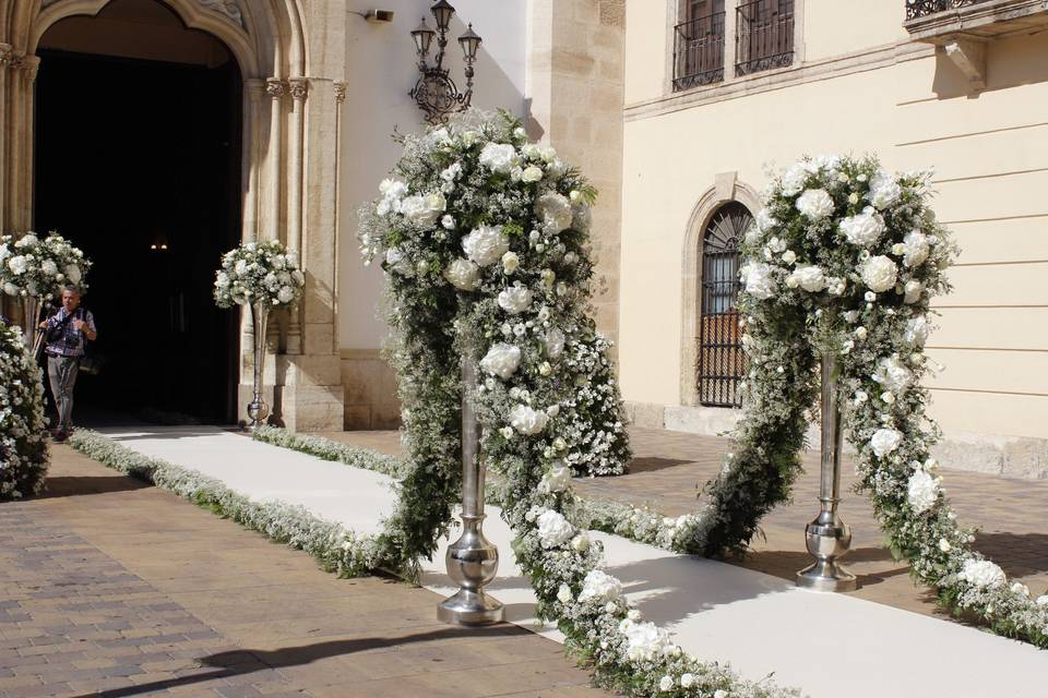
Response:
[{"label": "largest white flower topiary with trailing garlands, centre foreground", "polygon": [[541,616],[596,678],[630,695],[785,696],[703,663],[646,623],[598,569],[599,544],[569,522],[572,459],[591,472],[629,458],[606,345],[587,314],[595,192],[505,115],[468,115],[404,139],[395,177],[361,212],[366,260],[382,257],[396,333],[406,476],[397,512],[404,563],[431,555],[458,490],[460,357],[487,377],[469,396],[480,449],[505,480],[503,516]]}]

